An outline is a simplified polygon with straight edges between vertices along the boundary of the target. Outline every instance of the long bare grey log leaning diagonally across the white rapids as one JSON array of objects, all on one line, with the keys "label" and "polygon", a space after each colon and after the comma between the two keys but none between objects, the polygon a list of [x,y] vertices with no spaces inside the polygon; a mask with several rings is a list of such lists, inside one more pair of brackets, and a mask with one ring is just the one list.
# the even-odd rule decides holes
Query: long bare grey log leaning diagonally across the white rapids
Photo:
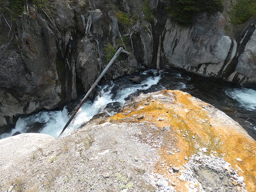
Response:
[{"label": "long bare grey log leaning diagonally across the white rapids", "polygon": [[71,123],[72,119],[74,119],[74,117],[76,116],[78,110],[82,107],[82,105],[84,104],[85,100],[87,99],[87,97],[89,96],[89,94],[92,92],[92,90],[96,87],[96,85],[99,83],[100,79],[105,75],[105,73],[108,71],[108,69],[111,67],[111,65],[114,63],[114,61],[116,60],[116,58],[118,57],[118,55],[124,52],[126,54],[130,54],[129,52],[125,51],[123,47],[120,47],[116,54],[113,56],[113,58],[109,61],[108,65],[106,66],[106,68],[101,72],[100,76],[97,78],[97,80],[94,82],[94,84],[92,85],[92,87],[89,89],[89,91],[86,93],[86,95],[84,96],[84,99],[79,103],[79,105],[77,106],[76,110],[73,112],[73,114],[71,115],[71,117],[69,118],[67,124],[64,126],[64,128],[62,129],[62,132],[60,133],[59,137],[62,135],[62,133],[65,131],[65,129],[68,127],[68,125]]}]

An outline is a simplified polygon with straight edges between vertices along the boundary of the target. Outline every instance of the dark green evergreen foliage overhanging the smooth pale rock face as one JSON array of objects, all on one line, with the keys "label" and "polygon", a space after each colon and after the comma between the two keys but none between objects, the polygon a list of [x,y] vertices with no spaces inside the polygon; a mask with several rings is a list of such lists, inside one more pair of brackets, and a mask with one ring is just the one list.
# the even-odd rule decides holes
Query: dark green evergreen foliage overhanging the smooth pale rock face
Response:
[{"label": "dark green evergreen foliage overhanging the smooth pale rock face", "polygon": [[169,17],[180,24],[191,24],[198,12],[223,11],[222,0],[169,0],[171,5],[165,10]]}]

